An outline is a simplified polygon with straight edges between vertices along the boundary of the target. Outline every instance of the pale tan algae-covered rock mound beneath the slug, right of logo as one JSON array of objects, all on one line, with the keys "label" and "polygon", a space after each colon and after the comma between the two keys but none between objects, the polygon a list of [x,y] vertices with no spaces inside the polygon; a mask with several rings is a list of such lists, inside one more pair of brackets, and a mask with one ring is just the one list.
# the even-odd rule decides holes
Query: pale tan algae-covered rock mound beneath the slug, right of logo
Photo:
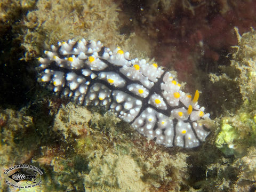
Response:
[{"label": "pale tan algae-covered rock mound beneath the slug, right of logo", "polygon": [[53,129],[62,130],[61,123],[66,124],[70,139],[74,138],[71,132],[81,135],[74,152],[87,162],[87,174],[82,173],[86,191],[156,191],[162,185],[178,190],[187,177],[186,154],[159,153],[160,146],[151,141],[140,145],[145,139],[112,114],[102,117],[70,103],[60,109]]}]

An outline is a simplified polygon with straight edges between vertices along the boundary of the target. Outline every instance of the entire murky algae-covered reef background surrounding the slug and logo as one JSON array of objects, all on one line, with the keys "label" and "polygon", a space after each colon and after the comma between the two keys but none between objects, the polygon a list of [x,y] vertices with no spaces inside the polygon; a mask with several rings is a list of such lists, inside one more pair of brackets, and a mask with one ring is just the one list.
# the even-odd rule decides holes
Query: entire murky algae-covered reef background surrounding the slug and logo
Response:
[{"label": "entire murky algae-covered reef background surrounding the slug and logo", "polygon": [[[0,191],[4,170],[31,164],[41,185],[19,191],[255,191],[256,1],[2,0]],[[115,115],[54,97],[37,58],[68,39],[100,40],[177,71],[202,91],[210,135],[164,147]]]}]

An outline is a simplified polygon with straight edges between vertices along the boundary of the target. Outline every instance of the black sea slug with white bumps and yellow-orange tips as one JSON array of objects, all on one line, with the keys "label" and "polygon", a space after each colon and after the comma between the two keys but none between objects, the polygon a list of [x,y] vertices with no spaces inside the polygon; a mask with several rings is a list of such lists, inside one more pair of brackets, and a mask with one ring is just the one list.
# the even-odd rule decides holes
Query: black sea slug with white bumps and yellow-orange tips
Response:
[{"label": "black sea slug with white bumps and yellow-orange tips", "polygon": [[38,58],[38,81],[78,105],[113,111],[142,135],[167,147],[193,148],[210,133],[209,118],[194,98],[180,90],[175,75],[145,59],[130,59],[100,41],[59,42]]}]

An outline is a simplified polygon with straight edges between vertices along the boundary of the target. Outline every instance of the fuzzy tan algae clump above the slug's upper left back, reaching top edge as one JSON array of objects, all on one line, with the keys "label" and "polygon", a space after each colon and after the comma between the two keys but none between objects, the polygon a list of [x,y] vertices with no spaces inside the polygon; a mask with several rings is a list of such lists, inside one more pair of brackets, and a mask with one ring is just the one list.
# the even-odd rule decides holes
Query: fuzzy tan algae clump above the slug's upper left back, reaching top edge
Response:
[{"label": "fuzzy tan algae clump above the slug's upper left back, reaching top edge", "polygon": [[[65,14],[63,14],[65,10]],[[36,9],[29,11],[25,18],[25,34],[22,46],[26,49],[25,59],[41,54],[46,47],[63,39],[100,39],[113,48],[122,45],[132,54],[142,52],[129,47],[133,34],[119,34],[119,8],[114,1],[44,1],[36,3]],[[67,18],[68,17],[68,18]],[[54,18],[54,19],[49,19]],[[147,47],[146,42],[133,42],[133,46]]]}]

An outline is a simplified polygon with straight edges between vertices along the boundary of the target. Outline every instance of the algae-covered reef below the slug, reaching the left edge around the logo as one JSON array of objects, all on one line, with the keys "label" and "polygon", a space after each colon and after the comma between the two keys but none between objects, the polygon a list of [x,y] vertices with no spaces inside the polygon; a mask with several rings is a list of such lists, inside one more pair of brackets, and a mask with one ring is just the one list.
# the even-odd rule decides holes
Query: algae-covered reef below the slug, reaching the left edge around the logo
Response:
[{"label": "algae-covered reef below the slug, reaching the left edge around the logo", "polygon": [[177,191],[186,184],[185,153],[170,155],[113,114],[102,116],[69,103],[60,107],[54,122],[42,123],[27,116],[29,111],[1,110],[1,153],[6,156],[1,165],[7,168],[10,158],[13,164],[31,161],[44,170],[43,190]]}]

